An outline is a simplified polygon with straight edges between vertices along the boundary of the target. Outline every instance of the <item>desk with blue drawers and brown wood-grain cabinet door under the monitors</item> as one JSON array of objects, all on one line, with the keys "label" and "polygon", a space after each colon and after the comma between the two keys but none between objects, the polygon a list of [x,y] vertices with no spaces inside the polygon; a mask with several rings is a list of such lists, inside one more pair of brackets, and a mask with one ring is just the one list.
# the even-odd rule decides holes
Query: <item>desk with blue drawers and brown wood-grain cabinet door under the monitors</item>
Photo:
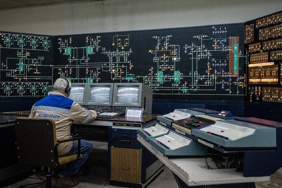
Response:
[{"label": "desk with blue drawers and brown wood-grain cabinet door under the monitors", "polygon": [[[28,117],[30,111],[1,114]],[[107,129],[108,177],[112,185],[134,184],[136,187],[144,187],[162,170],[164,164],[138,142],[137,130],[156,123],[157,115],[144,113],[142,118],[98,117],[88,124],[74,122],[73,125],[81,128],[102,126]]]}]

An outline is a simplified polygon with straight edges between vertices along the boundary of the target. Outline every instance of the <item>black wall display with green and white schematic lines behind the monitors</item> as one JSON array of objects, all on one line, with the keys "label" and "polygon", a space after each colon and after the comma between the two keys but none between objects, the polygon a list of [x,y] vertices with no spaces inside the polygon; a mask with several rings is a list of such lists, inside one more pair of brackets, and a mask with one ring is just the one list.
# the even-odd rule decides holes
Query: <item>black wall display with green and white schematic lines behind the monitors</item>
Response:
[{"label": "black wall display with green and white schematic lines behind the monitors", "polygon": [[244,24],[227,24],[55,37],[1,33],[0,95],[44,96],[65,77],[141,82],[154,99],[242,101],[243,31]]}]

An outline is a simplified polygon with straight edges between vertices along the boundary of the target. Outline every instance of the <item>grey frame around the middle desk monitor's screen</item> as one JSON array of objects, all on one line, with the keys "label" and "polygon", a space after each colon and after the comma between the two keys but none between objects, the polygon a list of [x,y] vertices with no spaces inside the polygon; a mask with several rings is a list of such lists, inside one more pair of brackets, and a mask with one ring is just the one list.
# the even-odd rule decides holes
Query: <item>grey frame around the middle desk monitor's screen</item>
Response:
[{"label": "grey frame around the middle desk monitor's screen", "polygon": [[[107,102],[101,102],[101,103],[88,102],[89,99],[90,99],[91,87],[93,87],[93,86],[97,86],[97,87],[101,87],[101,86],[108,87],[108,86],[110,86],[109,103],[107,103]],[[87,91],[86,91],[85,105],[86,106],[112,106],[113,87],[114,87],[113,83],[89,83],[88,87],[87,87]]]}]

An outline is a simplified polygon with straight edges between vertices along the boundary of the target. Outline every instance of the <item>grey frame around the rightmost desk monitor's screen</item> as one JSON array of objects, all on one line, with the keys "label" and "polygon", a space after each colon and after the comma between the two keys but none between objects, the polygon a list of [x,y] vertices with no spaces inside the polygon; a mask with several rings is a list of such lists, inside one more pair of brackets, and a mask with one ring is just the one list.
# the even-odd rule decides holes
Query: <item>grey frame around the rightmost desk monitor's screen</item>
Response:
[{"label": "grey frame around the rightmost desk monitor's screen", "polygon": [[[138,102],[137,103],[119,103],[117,102],[118,87],[138,87]],[[113,107],[140,107],[142,100],[142,83],[114,83],[112,106]]]}]

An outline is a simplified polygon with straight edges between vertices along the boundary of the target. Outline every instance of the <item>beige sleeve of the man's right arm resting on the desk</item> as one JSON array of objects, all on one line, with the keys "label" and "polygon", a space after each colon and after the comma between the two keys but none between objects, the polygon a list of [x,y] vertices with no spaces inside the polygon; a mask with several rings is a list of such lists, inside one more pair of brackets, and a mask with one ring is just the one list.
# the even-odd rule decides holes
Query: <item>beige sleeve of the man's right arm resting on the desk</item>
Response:
[{"label": "beige sleeve of the man's right arm resting on the desk", "polygon": [[97,113],[94,110],[86,110],[77,102],[73,102],[70,107],[70,119],[78,123],[89,123],[96,119]]}]

